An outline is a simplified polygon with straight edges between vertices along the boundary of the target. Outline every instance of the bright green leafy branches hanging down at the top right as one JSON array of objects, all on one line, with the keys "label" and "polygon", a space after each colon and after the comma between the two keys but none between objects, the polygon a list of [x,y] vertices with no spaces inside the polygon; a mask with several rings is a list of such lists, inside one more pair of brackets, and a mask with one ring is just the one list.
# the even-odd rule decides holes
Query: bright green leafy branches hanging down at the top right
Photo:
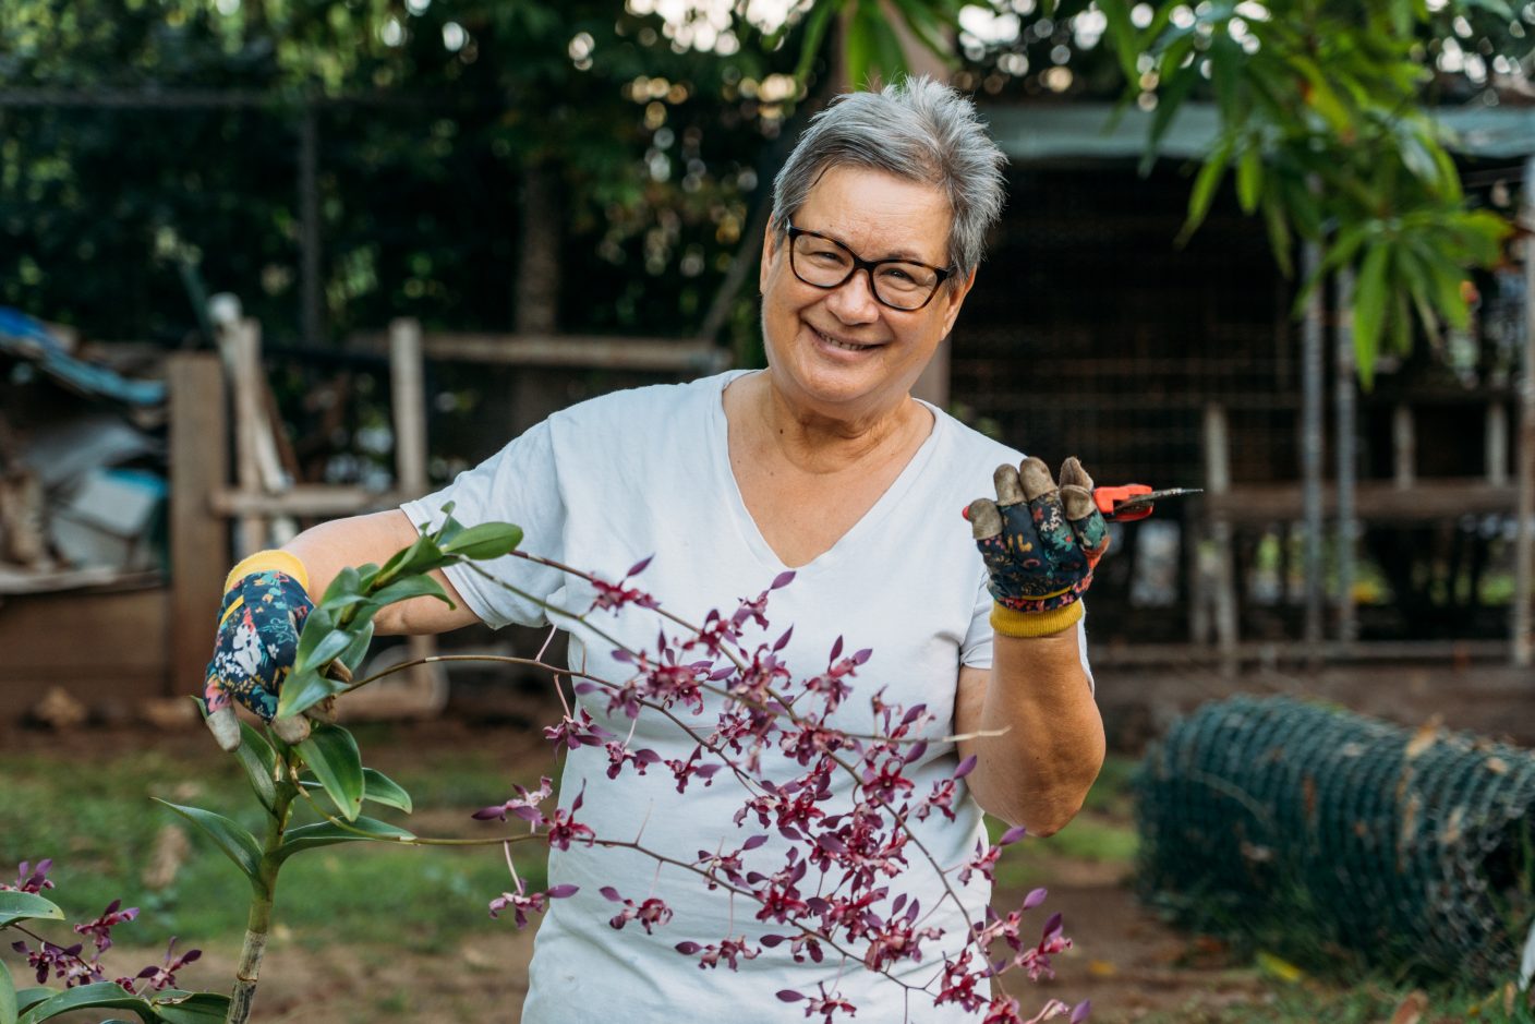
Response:
[{"label": "bright green leafy branches hanging down at the top right", "polygon": [[[1062,5],[1062,9],[1065,5]],[[1377,355],[1411,348],[1414,325],[1438,341],[1466,322],[1469,272],[1501,258],[1509,224],[1467,207],[1460,173],[1429,109],[1424,40],[1501,5],[1415,0],[1385,5],[1156,5],[1141,29],[1110,17],[1105,40],[1127,68],[1125,103],[1154,97],[1154,155],[1182,104],[1211,97],[1219,138],[1190,193],[1183,238],[1203,221],[1228,169],[1237,201],[1262,213],[1274,256],[1291,270],[1296,238],[1326,258],[1303,284],[1297,313],[1322,276],[1354,266],[1354,345],[1363,384]],[[1469,23],[1467,23],[1469,25]]]}]

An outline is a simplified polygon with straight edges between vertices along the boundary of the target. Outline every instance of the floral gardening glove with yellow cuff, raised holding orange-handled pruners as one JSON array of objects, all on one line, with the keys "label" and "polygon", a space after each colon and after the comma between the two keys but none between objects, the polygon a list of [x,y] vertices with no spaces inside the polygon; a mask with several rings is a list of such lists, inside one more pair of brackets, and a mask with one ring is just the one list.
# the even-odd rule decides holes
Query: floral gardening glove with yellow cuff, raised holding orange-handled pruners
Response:
[{"label": "floral gardening glove with yellow cuff, raised holding orange-handled pruners", "polygon": [[992,628],[1010,637],[1061,633],[1082,617],[1081,597],[1108,550],[1108,527],[1093,504],[1093,477],[1074,457],[1050,468],[1024,459],[993,474],[996,500],[978,497],[966,516],[992,574]]}]

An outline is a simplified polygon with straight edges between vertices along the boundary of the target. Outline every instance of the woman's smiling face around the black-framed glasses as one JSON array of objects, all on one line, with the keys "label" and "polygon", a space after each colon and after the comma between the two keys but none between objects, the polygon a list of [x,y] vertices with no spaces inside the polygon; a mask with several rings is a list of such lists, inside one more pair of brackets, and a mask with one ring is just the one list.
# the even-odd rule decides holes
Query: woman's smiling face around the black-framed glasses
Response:
[{"label": "woman's smiling face around the black-framed glasses", "polygon": [[[947,267],[950,210],[935,186],[866,167],[832,167],[794,215],[797,229],[835,239],[867,261]],[[774,385],[806,411],[858,419],[893,408],[953,327],[973,282],[949,278],[919,310],[875,299],[869,273],[835,289],[798,279],[789,243],[763,241],[763,341]]]}]

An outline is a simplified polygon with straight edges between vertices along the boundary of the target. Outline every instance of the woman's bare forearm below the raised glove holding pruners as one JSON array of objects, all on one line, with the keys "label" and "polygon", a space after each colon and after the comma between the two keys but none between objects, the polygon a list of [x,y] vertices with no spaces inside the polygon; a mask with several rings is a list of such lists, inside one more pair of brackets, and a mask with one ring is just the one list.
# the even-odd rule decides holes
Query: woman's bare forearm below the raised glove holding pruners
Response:
[{"label": "woman's bare forearm below the raised glove holding pruners", "polygon": [[[1070,821],[1104,765],[1104,723],[1078,649],[1079,625],[1044,637],[998,636],[992,671],[961,691],[966,780],[989,812],[1035,835]],[[969,705],[969,706],[966,706]]]}]

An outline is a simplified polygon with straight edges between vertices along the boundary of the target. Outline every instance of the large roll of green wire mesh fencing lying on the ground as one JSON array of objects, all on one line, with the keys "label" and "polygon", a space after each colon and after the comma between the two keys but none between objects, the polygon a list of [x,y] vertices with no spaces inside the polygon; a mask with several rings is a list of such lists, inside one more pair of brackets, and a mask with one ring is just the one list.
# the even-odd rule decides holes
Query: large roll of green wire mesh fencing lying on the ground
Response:
[{"label": "large roll of green wire mesh fencing lying on the ground", "polygon": [[1464,981],[1535,941],[1535,754],[1286,697],[1177,722],[1136,780],[1139,883],[1185,921]]}]

